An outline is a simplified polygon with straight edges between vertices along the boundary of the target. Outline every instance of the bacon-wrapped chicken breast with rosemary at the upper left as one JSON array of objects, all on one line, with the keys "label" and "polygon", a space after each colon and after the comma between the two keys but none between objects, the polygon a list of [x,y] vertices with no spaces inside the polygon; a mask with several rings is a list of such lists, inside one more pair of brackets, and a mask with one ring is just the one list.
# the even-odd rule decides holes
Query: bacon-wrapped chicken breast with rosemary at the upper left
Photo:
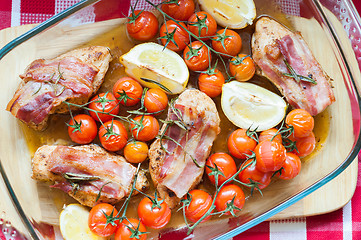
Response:
[{"label": "bacon-wrapped chicken breast with rosemary at the upper left", "polygon": [[43,130],[49,115],[69,111],[63,101],[84,104],[89,100],[103,83],[111,59],[109,49],[102,46],[37,59],[20,75],[22,81],[6,110],[28,126]]}]

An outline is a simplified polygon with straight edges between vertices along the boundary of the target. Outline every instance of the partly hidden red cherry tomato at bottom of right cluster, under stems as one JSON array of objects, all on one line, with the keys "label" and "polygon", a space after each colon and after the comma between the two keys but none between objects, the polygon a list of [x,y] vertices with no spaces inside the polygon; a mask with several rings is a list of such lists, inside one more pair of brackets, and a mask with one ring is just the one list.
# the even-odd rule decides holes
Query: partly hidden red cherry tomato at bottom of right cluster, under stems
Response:
[{"label": "partly hidden red cherry tomato at bottom of right cluster, under stems", "polygon": [[259,183],[258,188],[262,190],[270,184],[272,172],[261,172],[256,168],[256,165],[251,162],[252,160],[247,160],[241,165],[241,167],[245,167],[245,169],[239,173],[238,178],[246,184],[251,183],[251,180],[257,182]]}]

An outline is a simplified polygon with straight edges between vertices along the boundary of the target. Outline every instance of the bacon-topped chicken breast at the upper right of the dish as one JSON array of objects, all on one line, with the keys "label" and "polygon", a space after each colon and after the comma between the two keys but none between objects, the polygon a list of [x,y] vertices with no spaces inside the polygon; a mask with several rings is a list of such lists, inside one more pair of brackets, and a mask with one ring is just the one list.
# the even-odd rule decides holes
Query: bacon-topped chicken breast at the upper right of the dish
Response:
[{"label": "bacon-topped chicken breast at the upper right of the dish", "polygon": [[[317,115],[335,101],[331,79],[323,71],[299,33],[293,33],[268,17],[260,18],[252,38],[253,59],[294,108]],[[285,60],[297,75],[310,77],[316,84],[296,79]]]}]

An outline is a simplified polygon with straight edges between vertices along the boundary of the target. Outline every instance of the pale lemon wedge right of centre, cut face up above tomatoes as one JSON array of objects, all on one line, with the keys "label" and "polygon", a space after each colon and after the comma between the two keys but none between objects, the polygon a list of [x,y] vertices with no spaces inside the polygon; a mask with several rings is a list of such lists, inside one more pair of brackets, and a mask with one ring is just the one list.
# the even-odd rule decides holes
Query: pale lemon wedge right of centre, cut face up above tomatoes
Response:
[{"label": "pale lemon wedge right of centre, cut face up above tomatoes", "polygon": [[285,116],[286,102],[277,94],[252,83],[223,84],[222,110],[237,127],[257,131],[270,129]]}]

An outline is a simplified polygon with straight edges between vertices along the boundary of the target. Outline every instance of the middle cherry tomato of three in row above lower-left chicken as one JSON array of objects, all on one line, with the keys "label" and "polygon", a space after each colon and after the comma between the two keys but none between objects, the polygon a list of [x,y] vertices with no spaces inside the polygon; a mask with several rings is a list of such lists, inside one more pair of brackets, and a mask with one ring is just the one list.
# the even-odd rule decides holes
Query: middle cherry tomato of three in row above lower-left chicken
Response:
[{"label": "middle cherry tomato of three in row above lower-left chicken", "polygon": [[128,133],[123,123],[118,120],[111,120],[100,126],[99,139],[106,150],[116,152],[127,143]]}]

